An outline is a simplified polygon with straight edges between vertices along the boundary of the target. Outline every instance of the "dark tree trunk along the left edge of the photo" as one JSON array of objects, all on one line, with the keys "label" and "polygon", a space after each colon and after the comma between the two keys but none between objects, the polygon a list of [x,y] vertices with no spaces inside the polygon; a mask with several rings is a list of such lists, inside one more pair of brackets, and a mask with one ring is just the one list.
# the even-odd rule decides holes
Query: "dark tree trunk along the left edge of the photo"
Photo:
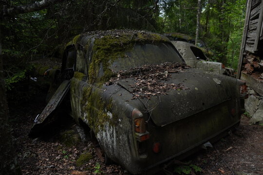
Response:
[{"label": "dark tree trunk along the left edge of the photo", "polygon": [[21,175],[18,165],[11,128],[8,124],[8,106],[3,79],[3,62],[0,29],[0,174]]}]

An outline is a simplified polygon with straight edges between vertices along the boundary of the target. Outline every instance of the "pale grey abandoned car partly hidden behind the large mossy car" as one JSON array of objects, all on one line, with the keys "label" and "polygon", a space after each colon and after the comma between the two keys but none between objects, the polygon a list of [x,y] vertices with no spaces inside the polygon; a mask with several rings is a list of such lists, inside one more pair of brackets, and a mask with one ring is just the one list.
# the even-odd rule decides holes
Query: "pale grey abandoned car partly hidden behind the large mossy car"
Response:
[{"label": "pale grey abandoned car partly hidden behind the large mossy car", "polygon": [[192,68],[234,76],[234,70],[225,68],[223,63],[209,61],[201,49],[193,44],[184,41],[171,41],[177,51],[182,55],[186,64]]}]

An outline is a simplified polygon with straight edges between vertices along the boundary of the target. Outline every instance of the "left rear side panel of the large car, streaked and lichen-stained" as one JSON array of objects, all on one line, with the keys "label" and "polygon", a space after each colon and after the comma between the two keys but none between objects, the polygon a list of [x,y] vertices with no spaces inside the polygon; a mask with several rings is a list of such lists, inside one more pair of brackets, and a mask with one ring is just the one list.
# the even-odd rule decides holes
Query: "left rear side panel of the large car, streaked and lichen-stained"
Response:
[{"label": "left rear side panel of the large car, streaked and lichen-stained", "polygon": [[[95,136],[105,151],[106,155],[113,161],[126,167],[131,173],[136,174],[142,168],[137,162],[138,154],[136,145],[134,145],[134,133],[131,121],[131,112],[134,107],[142,109],[142,103],[138,99],[131,100],[132,94],[119,86],[102,86],[101,88],[94,87],[100,93],[101,100],[107,102],[105,106],[109,105],[111,108],[105,107],[103,110],[107,114],[109,120],[102,121],[90,119],[89,112],[85,110],[87,103],[83,103],[85,95],[85,88],[89,87],[84,81],[73,78],[71,85],[71,103],[73,109],[73,116],[75,121],[80,118],[94,131]],[[93,90],[94,90],[93,89]],[[92,92],[93,93],[93,92]],[[95,104],[95,103],[94,103]],[[94,110],[101,110],[93,106]],[[94,116],[96,117],[96,116]],[[93,128],[94,121],[98,128]]]}]

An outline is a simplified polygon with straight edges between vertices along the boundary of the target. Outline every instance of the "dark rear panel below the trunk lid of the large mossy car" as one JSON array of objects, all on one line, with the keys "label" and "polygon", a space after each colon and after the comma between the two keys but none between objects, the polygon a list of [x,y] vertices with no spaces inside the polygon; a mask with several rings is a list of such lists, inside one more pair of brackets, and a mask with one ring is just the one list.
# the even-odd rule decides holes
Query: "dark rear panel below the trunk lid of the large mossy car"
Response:
[{"label": "dark rear panel below the trunk lid of the large mossy car", "polygon": [[[151,136],[145,141],[145,157],[138,156],[133,163],[137,164],[141,171],[162,169],[163,164],[169,160],[183,159],[201,149],[200,145],[203,143],[221,139],[230,128],[240,123],[240,108],[236,108],[234,115],[231,113],[236,106],[235,100],[227,100],[163,127],[149,123],[151,125],[147,130]],[[162,145],[161,152],[157,154],[152,151],[155,142]]]}]

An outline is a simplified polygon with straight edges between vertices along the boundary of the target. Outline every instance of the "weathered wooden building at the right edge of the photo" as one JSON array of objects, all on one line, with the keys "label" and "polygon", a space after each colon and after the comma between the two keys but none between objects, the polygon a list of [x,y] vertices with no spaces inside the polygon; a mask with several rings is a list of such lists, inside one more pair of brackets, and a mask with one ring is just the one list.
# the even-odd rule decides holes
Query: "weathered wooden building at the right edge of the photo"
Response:
[{"label": "weathered wooden building at the right edge of the photo", "polygon": [[263,96],[263,0],[247,0],[237,78]]}]

